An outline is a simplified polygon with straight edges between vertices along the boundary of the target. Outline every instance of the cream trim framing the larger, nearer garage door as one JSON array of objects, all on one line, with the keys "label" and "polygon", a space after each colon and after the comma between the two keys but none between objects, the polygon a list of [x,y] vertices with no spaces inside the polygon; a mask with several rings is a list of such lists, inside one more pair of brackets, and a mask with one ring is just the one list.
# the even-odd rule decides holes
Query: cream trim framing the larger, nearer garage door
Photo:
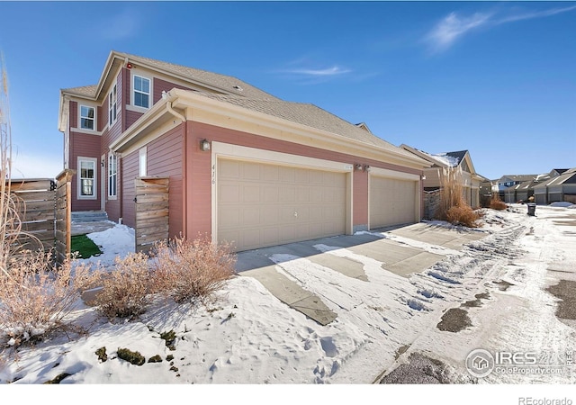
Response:
[{"label": "cream trim framing the larger, nearer garage door", "polygon": [[[207,153],[207,152],[206,152]],[[229,143],[211,142],[211,234],[212,240],[218,240],[218,159],[226,158],[253,161],[280,166],[295,166],[317,170],[345,173],[347,175],[346,232],[353,232],[353,177],[354,166],[348,163],[324,160],[316,157],[304,157],[272,150],[248,148]]]}]

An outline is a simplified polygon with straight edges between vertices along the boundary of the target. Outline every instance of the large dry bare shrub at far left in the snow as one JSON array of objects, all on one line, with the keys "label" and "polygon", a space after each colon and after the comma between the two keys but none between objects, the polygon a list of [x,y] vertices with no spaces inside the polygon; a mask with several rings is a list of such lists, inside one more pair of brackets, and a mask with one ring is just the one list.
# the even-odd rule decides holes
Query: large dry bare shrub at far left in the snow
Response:
[{"label": "large dry bare shrub at far left in the snow", "polygon": [[50,266],[51,253],[25,250],[7,261],[0,274],[0,341],[18,346],[71,326],[65,317],[91,284],[85,265]]}]

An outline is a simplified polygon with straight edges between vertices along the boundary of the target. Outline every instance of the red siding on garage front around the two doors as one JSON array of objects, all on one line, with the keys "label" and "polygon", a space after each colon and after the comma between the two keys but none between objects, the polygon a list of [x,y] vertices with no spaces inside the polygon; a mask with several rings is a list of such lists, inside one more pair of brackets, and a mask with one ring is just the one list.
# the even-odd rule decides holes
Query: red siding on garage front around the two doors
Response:
[{"label": "red siding on garage front around the two doors", "polygon": [[[320,148],[310,148],[302,144],[286,142],[279,139],[269,139],[258,135],[214,127],[201,122],[188,122],[186,131],[186,200],[187,218],[186,233],[211,232],[211,153],[202,152],[200,140],[209,139],[241,145],[250,148],[261,148],[278,152],[290,153],[306,157],[334,160],[352,164],[369,165],[410,174],[421,174],[421,171],[408,167],[378,162],[372,159],[358,158],[339,152],[331,152]],[[366,174],[355,174],[353,190],[353,225],[362,226],[368,223],[368,177]]]}]

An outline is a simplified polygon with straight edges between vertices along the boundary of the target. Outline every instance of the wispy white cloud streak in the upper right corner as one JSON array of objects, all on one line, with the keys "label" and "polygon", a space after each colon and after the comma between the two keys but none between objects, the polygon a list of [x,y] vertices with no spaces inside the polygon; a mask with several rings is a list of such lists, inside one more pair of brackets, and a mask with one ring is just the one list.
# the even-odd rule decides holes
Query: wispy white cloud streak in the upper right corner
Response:
[{"label": "wispy white cloud streak in the upper right corner", "polygon": [[425,41],[429,49],[434,52],[442,52],[454,45],[470,31],[479,30],[482,27],[496,26],[503,23],[513,23],[522,20],[549,17],[555,14],[562,14],[576,9],[576,5],[571,7],[554,8],[532,13],[509,14],[498,16],[496,13],[474,13],[471,16],[461,16],[456,13],[448,14],[437,25],[428,32]]}]

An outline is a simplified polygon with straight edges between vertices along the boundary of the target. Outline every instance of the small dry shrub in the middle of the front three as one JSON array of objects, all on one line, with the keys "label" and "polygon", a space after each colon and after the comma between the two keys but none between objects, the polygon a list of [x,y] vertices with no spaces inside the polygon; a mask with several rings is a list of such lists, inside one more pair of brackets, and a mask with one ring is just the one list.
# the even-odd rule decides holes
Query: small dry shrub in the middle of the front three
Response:
[{"label": "small dry shrub in the middle of the front three", "polygon": [[150,293],[148,256],[130,253],[116,257],[114,268],[108,272],[99,270],[102,290],[95,295],[94,305],[108,318],[128,318],[146,310]]}]

